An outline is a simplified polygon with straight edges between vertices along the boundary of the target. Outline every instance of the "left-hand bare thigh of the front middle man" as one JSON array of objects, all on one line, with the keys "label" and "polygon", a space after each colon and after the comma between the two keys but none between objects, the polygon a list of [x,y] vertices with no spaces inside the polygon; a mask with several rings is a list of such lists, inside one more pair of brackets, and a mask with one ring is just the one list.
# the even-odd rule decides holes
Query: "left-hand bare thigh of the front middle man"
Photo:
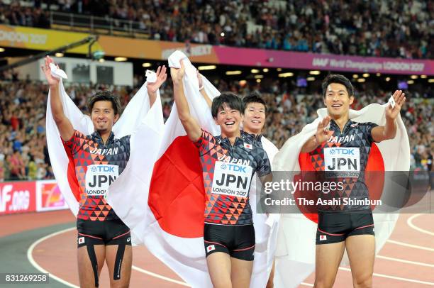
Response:
[{"label": "left-hand bare thigh of the front middle man", "polygon": [[206,257],[209,277],[214,288],[232,287],[230,282],[230,256],[228,253],[215,252]]}]

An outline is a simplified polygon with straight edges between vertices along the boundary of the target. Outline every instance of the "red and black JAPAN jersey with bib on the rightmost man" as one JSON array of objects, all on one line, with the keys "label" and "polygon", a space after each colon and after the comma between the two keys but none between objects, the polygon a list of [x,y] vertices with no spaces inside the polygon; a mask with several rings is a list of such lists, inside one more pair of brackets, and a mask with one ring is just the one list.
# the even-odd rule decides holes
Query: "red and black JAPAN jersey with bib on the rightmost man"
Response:
[{"label": "red and black JAPAN jersey with bib on the rightmost man", "polygon": [[[322,199],[369,199],[369,190],[365,183],[365,168],[374,143],[372,128],[377,124],[357,123],[349,120],[343,131],[333,119],[330,121],[330,131],[333,135],[321,146],[309,153],[313,169],[324,171],[325,181],[343,182],[343,190],[335,190],[328,194],[321,193]],[[352,211],[369,209],[369,205],[324,205],[320,210]]]}]

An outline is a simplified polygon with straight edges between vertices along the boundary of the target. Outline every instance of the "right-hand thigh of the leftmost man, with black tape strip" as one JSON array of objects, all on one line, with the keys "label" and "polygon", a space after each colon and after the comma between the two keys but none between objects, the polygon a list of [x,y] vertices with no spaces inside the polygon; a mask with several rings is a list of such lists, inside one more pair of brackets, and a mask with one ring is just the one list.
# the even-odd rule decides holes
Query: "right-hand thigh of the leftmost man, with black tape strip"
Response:
[{"label": "right-hand thigh of the leftmost man, with black tape strip", "polygon": [[106,262],[109,267],[110,287],[128,287],[133,265],[131,245],[106,245]]}]

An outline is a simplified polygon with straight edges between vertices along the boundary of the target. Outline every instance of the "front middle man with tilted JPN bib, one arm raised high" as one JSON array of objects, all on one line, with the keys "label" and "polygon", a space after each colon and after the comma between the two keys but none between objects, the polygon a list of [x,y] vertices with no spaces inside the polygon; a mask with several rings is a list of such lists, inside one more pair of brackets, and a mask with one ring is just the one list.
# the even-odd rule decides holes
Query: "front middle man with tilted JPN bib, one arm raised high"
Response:
[{"label": "front middle man with tilted JPN bib, one arm raised high", "polygon": [[204,245],[213,287],[248,287],[255,251],[255,229],[249,204],[252,176],[271,177],[267,153],[254,135],[240,132],[243,102],[231,93],[213,99],[211,113],[220,136],[201,130],[184,95],[184,65],[171,68],[179,119],[199,148],[206,192]]}]

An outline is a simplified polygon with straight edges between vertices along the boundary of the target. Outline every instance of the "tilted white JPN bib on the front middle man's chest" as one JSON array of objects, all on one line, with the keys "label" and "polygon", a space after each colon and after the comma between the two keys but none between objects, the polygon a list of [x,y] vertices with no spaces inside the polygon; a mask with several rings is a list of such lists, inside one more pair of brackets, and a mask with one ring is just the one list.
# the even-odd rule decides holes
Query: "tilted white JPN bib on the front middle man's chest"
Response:
[{"label": "tilted white JPN bib on the front middle man's chest", "polygon": [[214,166],[212,193],[247,198],[252,167],[217,161]]}]

